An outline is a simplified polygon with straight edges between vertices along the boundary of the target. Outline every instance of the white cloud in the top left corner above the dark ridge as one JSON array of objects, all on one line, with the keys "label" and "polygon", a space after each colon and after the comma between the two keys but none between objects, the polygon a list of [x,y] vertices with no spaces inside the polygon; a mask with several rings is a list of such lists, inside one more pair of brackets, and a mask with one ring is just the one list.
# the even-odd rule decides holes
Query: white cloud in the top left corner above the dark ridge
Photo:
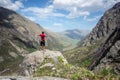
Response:
[{"label": "white cloud in the top left corner above the dark ridge", "polygon": [[11,10],[19,10],[20,8],[24,7],[23,3],[20,0],[0,0],[0,6]]}]

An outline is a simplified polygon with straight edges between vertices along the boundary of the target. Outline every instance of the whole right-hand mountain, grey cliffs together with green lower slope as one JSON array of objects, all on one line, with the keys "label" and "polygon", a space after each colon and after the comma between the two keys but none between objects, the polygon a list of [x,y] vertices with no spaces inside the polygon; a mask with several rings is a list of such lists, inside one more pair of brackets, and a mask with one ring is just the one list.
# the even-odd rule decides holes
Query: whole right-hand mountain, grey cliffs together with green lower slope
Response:
[{"label": "whole right-hand mountain, grey cliffs together with green lower slope", "polygon": [[64,52],[68,62],[95,71],[109,66],[120,73],[120,2],[107,10],[77,48]]}]

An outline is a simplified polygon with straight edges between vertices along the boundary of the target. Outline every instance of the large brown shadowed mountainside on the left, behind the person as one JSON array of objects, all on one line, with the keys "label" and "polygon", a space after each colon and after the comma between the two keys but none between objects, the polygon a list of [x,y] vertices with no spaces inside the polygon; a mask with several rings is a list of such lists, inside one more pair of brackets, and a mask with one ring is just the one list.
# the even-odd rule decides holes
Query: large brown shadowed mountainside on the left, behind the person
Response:
[{"label": "large brown shadowed mountainside on the left, behind the person", "polygon": [[38,34],[42,31],[47,34],[48,49],[62,49],[62,44],[40,25],[0,7],[0,74],[19,70],[24,55],[39,49]]}]

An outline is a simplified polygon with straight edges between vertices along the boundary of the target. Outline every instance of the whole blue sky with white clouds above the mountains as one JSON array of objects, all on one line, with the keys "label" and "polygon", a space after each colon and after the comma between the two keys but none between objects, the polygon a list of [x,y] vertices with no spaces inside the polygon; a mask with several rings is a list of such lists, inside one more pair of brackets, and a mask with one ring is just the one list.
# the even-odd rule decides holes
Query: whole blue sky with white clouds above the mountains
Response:
[{"label": "whole blue sky with white clouds above the mountains", "polygon": [[0,6],[18,12],[45,29],[60,32],[92,30],[104,12],[117,2],[120,0],[0,0]]}]

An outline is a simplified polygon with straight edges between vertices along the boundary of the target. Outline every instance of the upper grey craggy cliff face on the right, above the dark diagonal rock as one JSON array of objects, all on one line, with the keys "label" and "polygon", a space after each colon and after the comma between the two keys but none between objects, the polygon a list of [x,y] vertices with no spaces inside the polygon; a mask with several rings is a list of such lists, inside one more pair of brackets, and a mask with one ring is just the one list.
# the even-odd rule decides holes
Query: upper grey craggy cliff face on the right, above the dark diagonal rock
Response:
[{"label": "upper grey craggy cliff face on the right, above the dark diagonal rock", "polygon": [[119,20],[120,15],[119,10],[120,3],[117,3],[111,9],[106,11],[97,23],[96,27],[93,28],[92,32],[90,32],[90,34],[82,41],[82,43],[80,42],[79,45],[89,46],[99,40],[104,42],[118,25],[117,21]]}]

